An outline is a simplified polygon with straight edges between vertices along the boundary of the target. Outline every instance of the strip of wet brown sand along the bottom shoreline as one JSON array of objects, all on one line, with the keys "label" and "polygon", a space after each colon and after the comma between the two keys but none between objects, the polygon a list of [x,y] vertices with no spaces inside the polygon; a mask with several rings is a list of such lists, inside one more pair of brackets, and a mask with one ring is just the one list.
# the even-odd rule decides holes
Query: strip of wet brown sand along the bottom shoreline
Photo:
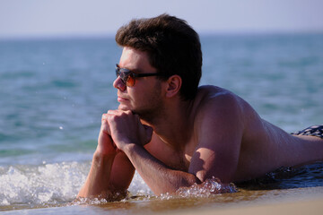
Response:
[{"label": "strip of wet brown sand along the bottom shoreline", "polygon": [[100,205],[74,205],[30,210],[3,211],[4,214],[173,214],[173,215],[253,215],[322,214],[323,186],[271,191],[241,191],[214,198],[135,199]]}]

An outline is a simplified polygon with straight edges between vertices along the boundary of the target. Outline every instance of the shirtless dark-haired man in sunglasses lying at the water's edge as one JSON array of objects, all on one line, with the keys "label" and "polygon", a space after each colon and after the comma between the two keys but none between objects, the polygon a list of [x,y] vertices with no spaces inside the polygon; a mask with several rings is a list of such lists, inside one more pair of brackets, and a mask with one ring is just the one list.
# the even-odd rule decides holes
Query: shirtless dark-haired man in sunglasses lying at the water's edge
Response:
[{"label": "shirtless dark-haired man in sunglasses lying at the water's edge", "polygon": [[323,160],[322,138],[285,133],[231,91],[198,87],[201,47],[186,22],[167,14],[134,20],[116,41],[119,107],[102,115],[79,197],[125,191],[135,170],[159,195],[213,176],[239,182]]}]

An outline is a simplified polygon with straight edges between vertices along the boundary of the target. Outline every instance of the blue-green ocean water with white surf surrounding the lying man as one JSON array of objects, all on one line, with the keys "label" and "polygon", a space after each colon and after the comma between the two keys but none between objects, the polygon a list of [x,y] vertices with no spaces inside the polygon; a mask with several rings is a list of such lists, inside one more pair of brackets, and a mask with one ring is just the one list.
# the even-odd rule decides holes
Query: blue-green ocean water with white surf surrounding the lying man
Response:
[{"label": "blue-green ocean water with white surf surrounding the lying man", "polygon": [[[235,92],[287,132],[323,123],[323,34],[202,35],[201,42],[201,85]],[[131,198],[77,206],[100,116],[118,107],[112,82],[120,55],[112,37],[0,41],[0,211],[91,214],[121,208],[118,213],[128,214],[161,211],[161,203],[177,210],[188,206],[184,202],[223,205],[246,196],[257,202],[323,193],[323,165],[317,163],[272,174],[255,182],[257,189],[241,185],[236,193],[204,201],[157,198],[135,174]]]}]

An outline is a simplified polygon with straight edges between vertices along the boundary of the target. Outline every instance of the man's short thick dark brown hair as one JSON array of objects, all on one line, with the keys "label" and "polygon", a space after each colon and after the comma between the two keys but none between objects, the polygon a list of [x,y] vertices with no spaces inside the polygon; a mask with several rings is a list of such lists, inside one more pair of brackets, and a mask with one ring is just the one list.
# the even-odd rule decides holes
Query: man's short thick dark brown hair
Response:
[{"label": "man's short thick dark brown hair", "polygon": [[187,22],[162,14],[152,19],[132,20],[116,35],[119,46],[146,52],[158,76],[167,80],[178,74],[182,99],[194,99],[201,78],[202,51],[199,37]]}]

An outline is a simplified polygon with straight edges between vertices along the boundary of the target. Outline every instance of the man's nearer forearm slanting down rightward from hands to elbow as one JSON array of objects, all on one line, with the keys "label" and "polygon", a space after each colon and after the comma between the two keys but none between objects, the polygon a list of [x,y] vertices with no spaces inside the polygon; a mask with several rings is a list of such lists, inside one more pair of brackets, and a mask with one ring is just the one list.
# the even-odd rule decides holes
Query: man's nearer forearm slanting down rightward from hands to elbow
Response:
[{"label": "man's nearer forearm slanting down rightward from hands to elbow", "polygon": [[175,193],[181,186],[200,183],[193,174],[168,168],[140,145],[129,144],[124,152],[134,165],[135,170],[143,177],[144,182],[157,195]]}]

